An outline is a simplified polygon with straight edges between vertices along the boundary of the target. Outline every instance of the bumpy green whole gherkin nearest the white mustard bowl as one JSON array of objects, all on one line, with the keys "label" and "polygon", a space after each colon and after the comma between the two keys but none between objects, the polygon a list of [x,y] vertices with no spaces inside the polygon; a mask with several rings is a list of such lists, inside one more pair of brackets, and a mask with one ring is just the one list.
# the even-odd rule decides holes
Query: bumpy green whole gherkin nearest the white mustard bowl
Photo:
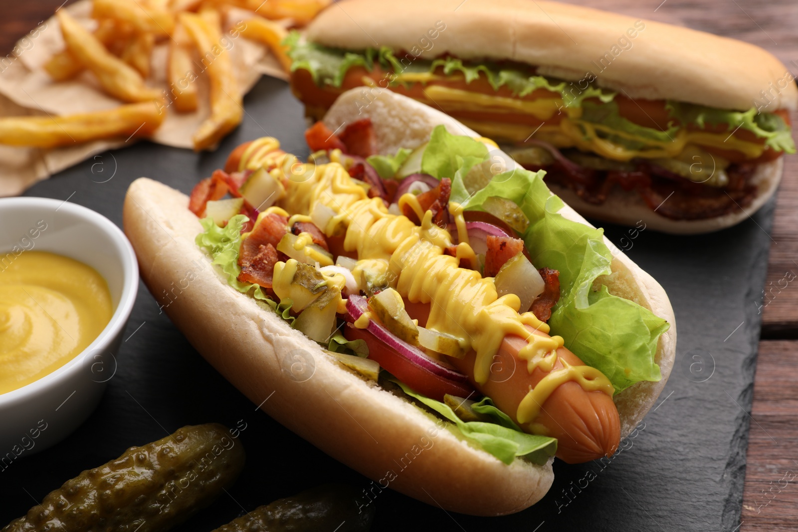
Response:
[{"label": "bumpy green whole gherkin nearest the white mustard bowl", "polygon": [[220,424],[178,429],[83,471],[2,532],[158,532],[183,522],[229,487],[243,445]]}]

